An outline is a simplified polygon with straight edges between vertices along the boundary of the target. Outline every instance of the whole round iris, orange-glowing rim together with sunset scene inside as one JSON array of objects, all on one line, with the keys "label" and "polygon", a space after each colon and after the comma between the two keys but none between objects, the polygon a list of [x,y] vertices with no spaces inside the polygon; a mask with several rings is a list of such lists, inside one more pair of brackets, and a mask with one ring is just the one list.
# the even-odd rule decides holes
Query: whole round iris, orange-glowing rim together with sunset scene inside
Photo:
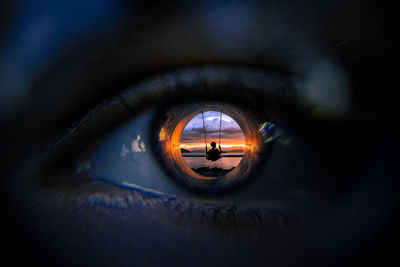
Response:
[{"label": "whole round iris, orange-glowing rim together with sunset scene inside", "polygon": [[[221,107],[223,112],[221,112]],[[219,127],[221,127],[222,143],[222,125],[220,126],[218,124],[222,121],[218,118],[214,120],[214,123],[217,124],[215,127],[216,131],[214,131],[215,134],[210,135],[209,139],[207,139],[208,135],[205,124],[207,124],[206,121],[209,118],[208,114],[218,114],[220,119],[222,119],[222,115],[224,115],[224,118],[227,120],[235,122],[237,125],[236,130],[239,130],[242,135],[241,139],[237,138],[238,147],[243,151],[243,153],[239,154],[242,157],[236,157],[236,160],[231,161],[231,163],[235,162],[236,165],[231,164],[229,169],[220,168],[214,170],[214,172],[210,172],[210,168],[208,167],[208,169],[206,169],[207,166],[204,166],[206,168],[199,170],[199,168],[193,167],[193,160],[189,160],[188,157],[185,157],[187,153],[182,153],[182,148],[188,148],[188,144],[185,140],[187,139],[186,135],[188,134],[188,129],[193,129],[193,127],[191,127],[191,122],[199,117],[204,117],[205,123],[202,127],[197,127],[196,130],[199,133],[196,136],[197,142],[195,143],[197,146],[203,147],[202,161],[207,162],[207,158],[209,157],[205,151],[205,142],[208,141],[207,151],[212,149],[212,141],[216,141],[215,146],[216,149],[219,150]],[[158,151],[162,164],[173,179],[191,190],[206,193],[220,193],[234,188],[248,180],[252,171],[259,163],[261,152],[266,146],[265,139],[259,131],[260,122],[255,118],[256,115],[251,111],[238,109],[233,105],[227,104],[202,103],[174,107],[166,112],[165,119],[162,120],[159,131],[157,132]],[[206,135],[204,135],[204,131]],[[203,139],[204,136],[206,136],[206,139]],[[213,137],[215,140],[212,140]],[[203,140],[201,145],[200,139]],[[223,144],[221,144],[221,146],[222,145]],[[215,162],[217,162],[217,160],[215,160]],[[219,162],[219,164],[222,163],[222,161]],[[232,169],[232,167],[234,168]]]}]

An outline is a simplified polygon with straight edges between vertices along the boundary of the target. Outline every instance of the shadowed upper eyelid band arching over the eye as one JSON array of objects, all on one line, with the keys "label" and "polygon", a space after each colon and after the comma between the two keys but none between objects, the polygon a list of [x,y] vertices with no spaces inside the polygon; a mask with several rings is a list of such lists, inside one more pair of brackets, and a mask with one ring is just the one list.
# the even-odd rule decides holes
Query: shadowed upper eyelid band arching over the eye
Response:
[{"label": "shadowed upper eyelid band arching over the eye", "polygon": [[[296,87],[298,79],[288,73],[243,66],[200,67],[160,74],[126,89],[89,111],[66,131],[64,137],[58,139],[57,144],[66,139],[98,136],[111,124],[131,119],[135,114],[148,109],[149,103],[154,106],[173,105],[173,97],[185,93],[193,98],[196,95],[207,97],[207,100],[214,96],[235,97],[245,103],[251,100],[254,101],[251,104],[259,105],[261,109],[268,106],[269,111],[292,105],[295,107],[292,112],[294,116],[298,117],[301,110],[307,116],[308,109],[312,107],[307,106],[299,94]],[[219,100],[224,102],[226,99]],[[102,121],[101,124],[99,121]],[[97,128],[96,133],[91,129],[93,125]]]}]

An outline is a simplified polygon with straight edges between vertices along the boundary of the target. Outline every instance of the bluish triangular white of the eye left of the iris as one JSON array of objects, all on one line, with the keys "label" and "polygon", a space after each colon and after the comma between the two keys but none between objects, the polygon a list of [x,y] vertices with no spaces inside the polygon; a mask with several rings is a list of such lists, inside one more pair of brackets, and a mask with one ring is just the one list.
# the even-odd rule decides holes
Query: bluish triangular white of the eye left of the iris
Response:
[{"label": "bluish triangular white of the eye left of the iris", "polygon": [[169,194],[184,194],[173,184],[151,151],[149,129],[154,111],[148,111],[112,133],[79,159],[76,175],[104,180],[121,187],[130,184]]}]

